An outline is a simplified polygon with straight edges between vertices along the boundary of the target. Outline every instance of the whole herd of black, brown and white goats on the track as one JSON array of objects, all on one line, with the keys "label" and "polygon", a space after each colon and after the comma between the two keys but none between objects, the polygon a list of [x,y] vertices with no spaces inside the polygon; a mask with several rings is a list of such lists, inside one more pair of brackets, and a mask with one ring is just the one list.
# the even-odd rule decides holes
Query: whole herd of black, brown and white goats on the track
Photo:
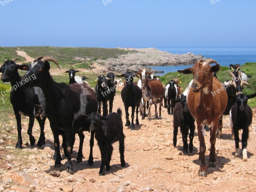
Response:
[{"label": "whole herd of black, brown and white goats on the track", "polygon": [[[52,57],[38,57],[29,65],[17,65],[17,58],[6,60],[0,68],[2,81],[10,82],[12,87],[20,82],[15,91],[11,90],[10,100],[17,120],[18,142],[16,148],[22,147],[21,138],[21,115],[29,116],[28,135],[31,145],[35,144],[32,135],[34,119],[40,125],[40,137],[37,146],[45,144],[44,123],[48,118],[54,137],[54,160],[55,167],[61,166],[60,141],[62,135],[62,147],[65,156],[68,157],[67,172],[73,173],[71,153],[75,142],[75,134],[80,138],[77,163],[82,161],[82,149],[84,142],[83,131],[91,132],[90,155],[88,164],[93,164],[92,148],[94,144],[94,134],[98,141],[101,153],[100,175],[105,174],[105,168],[110,170],[110,160],[113,151],[112,143],[119,141],[119,152],[121,166],[125,166],[124,161],[124,133],[121,118],[122,111],[118,108],[117,113],[112,113],[113,100],[116,93],[115,76],[108,73],[107,76],[97,74],[97,85],[95,90],[90,88],[86,77],[77,78],[75,71],[66,71],[69,74],[69,84],[56,83],[49,73],[50,63],[54,62],[58,68],[58,62]],[[215,65],[211,66],[211,63]],[[243,94],[243,88],[249,86],[247,76],[239,71],[240,66],[230,66],[233,73],[228,72],[232,77],[231,81],[224,84],[216,77],[220,65],[208,59],[198,60],[192,68],[179,70],[183,74],[193,74],[194,79],[182,93],[182,88],[178,85],[178,80],[170,80],[165,86],[154,75],[140,69],[137,73],[126,72],[118,77],[125,78],[125,85],[121,92],[121,97],[125,108],[125,126],[130,126],[134,130],[134,113],[136,108],[136,124],[139,125],[138,112],[142,119],[145,119],[146,108],[148,108],[148,119],[151,118],[150,108],[155,105],[155,117],[161,119],[161,107],[164,99],[164,107],[168,108],[168,114],[173,114],[173,145],[177,144],[178,127],[182,133],[183,152],[188,154],[188,130],[189,132],[189,151],[193,151],[193,138],[195,132],[195,120],[198,130],[199,159],[201,165],[198,174],[206,176],[204,130],[210,127],[210,164],[214,166],[216,162],[215,143],[216,132],[221,138],[222,135],[222,115],[230,115],[232,135],[235,137],[236,156],[239,156],[239,133],[243,129],[242,149],[243,160],[247,161],[247,139],[249,135],[248,126],[252,123],[252,110],[247,105],[248,99],[255,97]],[[18,69],[28,72],[21,77]],[[36,78],[31,79],[31,76]],[[246,76],[246,78],[245,78]],[[133,83],[134,77],[140,77],[138,82]],[[148,78],[149,77],[149,78]],[[150,78],[151,77],[151,78]],[[245,79],[244,79],[245,78]],[[29,79],[29,81],[28,81]],[[80,84],[79,84],[80,82]],[[109,114],[107,101],[109,100]],[[101,103],[103,115],[100,115]],[[159,116],[157,113],[157,103],[159,103]],[[176,103],[176,106],[175,106]],[[128,108],[132,108],[132,121],[129,121]],[[42,118],[41,118],[41,116]]]}]

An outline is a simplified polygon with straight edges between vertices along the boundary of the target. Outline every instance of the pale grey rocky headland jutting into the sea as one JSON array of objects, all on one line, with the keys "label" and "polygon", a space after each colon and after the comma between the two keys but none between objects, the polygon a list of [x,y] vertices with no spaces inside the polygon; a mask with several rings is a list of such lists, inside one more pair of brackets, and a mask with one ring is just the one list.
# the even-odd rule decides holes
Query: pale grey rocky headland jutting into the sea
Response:
[{"label": "pale grey rocky headland jutting into the sea", "polygon": [[123,73],[125,71],[138,71],[141,67],[150,66],[174,66],[174,65],[193,65],[199,59],[206,59],[203,55],[194,53],[172,54],[160,51],[156,48],[119,48],[129,50],[126,55],[120,55],[117,59],[108,58],[107,60],[97,60],[104,64],[109,71]]}]

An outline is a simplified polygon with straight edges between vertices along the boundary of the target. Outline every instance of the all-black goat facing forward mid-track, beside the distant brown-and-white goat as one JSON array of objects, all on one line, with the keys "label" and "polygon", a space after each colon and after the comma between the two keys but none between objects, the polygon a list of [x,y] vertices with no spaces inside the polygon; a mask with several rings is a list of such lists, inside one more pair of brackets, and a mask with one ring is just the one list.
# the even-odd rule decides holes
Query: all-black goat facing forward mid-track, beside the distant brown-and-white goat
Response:
[{"label": "all-black goat facing forward mid-track, beside the distant brown-and-white goat", "polygon": [[[135,108],[136,108],[136,125],[139,125],[138,112],[139,112],[139,106],[140,106],[141,97],[142,97],[141,89],[133,83],[133,77],[135,76],[136,75],[132,72],[126,72],[118,76],[118,77],[124,77],[126,81],[126,84],[124,85],[124,88],[121,91],[121,97],[122,97],[122,100],[124,103],[124,109],[125,109],[125,119],[126,119],[125,126],[131,125],[131,130],[134,130],[133,120],[134,120]],[[129,121],[129,112],[128,112],[129,107],[132,107],[132,124]]]}]

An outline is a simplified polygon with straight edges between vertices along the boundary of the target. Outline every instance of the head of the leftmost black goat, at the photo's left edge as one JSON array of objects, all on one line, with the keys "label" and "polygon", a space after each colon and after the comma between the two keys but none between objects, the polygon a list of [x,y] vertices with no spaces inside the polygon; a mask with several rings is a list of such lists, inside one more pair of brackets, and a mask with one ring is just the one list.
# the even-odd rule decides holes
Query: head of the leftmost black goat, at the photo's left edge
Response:
[{"label": "head of the leftmost black goat, at the photo's left edge", "polygon": [[[0,68],[0,72],[2,72],[2,81],[3,82],[10,82],[16,81],[17,76],[19,76],[18,69],[20,70],[27,70],[27,65],[17,65],[15,63],[16,60],[20,60],[18,58],[13,58],[12,60],[4,61],[4,64]],[[21,61],[21,60],[20,60]]]}]

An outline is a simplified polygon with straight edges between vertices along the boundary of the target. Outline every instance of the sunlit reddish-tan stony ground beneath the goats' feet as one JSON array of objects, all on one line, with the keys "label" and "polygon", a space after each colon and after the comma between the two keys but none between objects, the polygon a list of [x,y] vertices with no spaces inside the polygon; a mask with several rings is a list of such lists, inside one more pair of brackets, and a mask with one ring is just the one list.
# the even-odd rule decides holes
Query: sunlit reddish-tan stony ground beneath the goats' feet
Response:
[{"label": "sunlit reddish-tan stony ground beneath the goats' feet", "polygon": [[[124,105],[120,94],[114,100],[114,110],[123,110],[123,124],[125,124]],[[154,107],[152,110],[154,111]],[[131,113],[130,113],[131,114]],[[153,113],[151,113],[153,115]],[[231,129],[228,116],[224,117],[223,139],[216,141],[217,166],[207,166],[207,177],[197,175],[200,161],[198,160],[198,136],[194,138],[192,154],[184,156],[182,139],[178,133],[177,147],[172,145],[173,116],[162,109],[162,119],[154,116],[149,121],[141,120],[135,125],[135,131],[124,127],[125,161],[124,168],[120,165],[118,142],[114,144],[111,170],[105,176],[99,176],[100,150],[95,140],[93,148],[94,164],[87,164],[89,156],[90,134],[84,132],[83,154],[85,159],[76,164],[79,137],[76,136],[72,161],[75,173],[66,172],[67,159],[63,156],[61,168],[54,168],[53,136],[49,121],[45,125],[46,144],[42,148],[31,147],[27,135],[28,118],[22,117],[23,148],[15,149],[17,141],[16,121],[11,113],[6,121],[0,118],[0,191],[256,191],[256,147],[255,147],[255,109],[253,123],[249,127],[248,161],[243,162],[235,158],[235,142],[230,140]],[[36,122],[36,121],[35,121]],[[33,128],[36,139],[39,138],[39,125]],[[205,133],[206,146],[209,148],[210,132]],[[240,132],[241,139],[241,132]],[[61,138],[60,138],[61,140]],[[62,140],[61,140],[62,142]],[[240,142],[241,148],[241,142]],[[240,154],[242,154],[240,150]],[[206,151],[206,161],[209,160],[209,150]]]}]

